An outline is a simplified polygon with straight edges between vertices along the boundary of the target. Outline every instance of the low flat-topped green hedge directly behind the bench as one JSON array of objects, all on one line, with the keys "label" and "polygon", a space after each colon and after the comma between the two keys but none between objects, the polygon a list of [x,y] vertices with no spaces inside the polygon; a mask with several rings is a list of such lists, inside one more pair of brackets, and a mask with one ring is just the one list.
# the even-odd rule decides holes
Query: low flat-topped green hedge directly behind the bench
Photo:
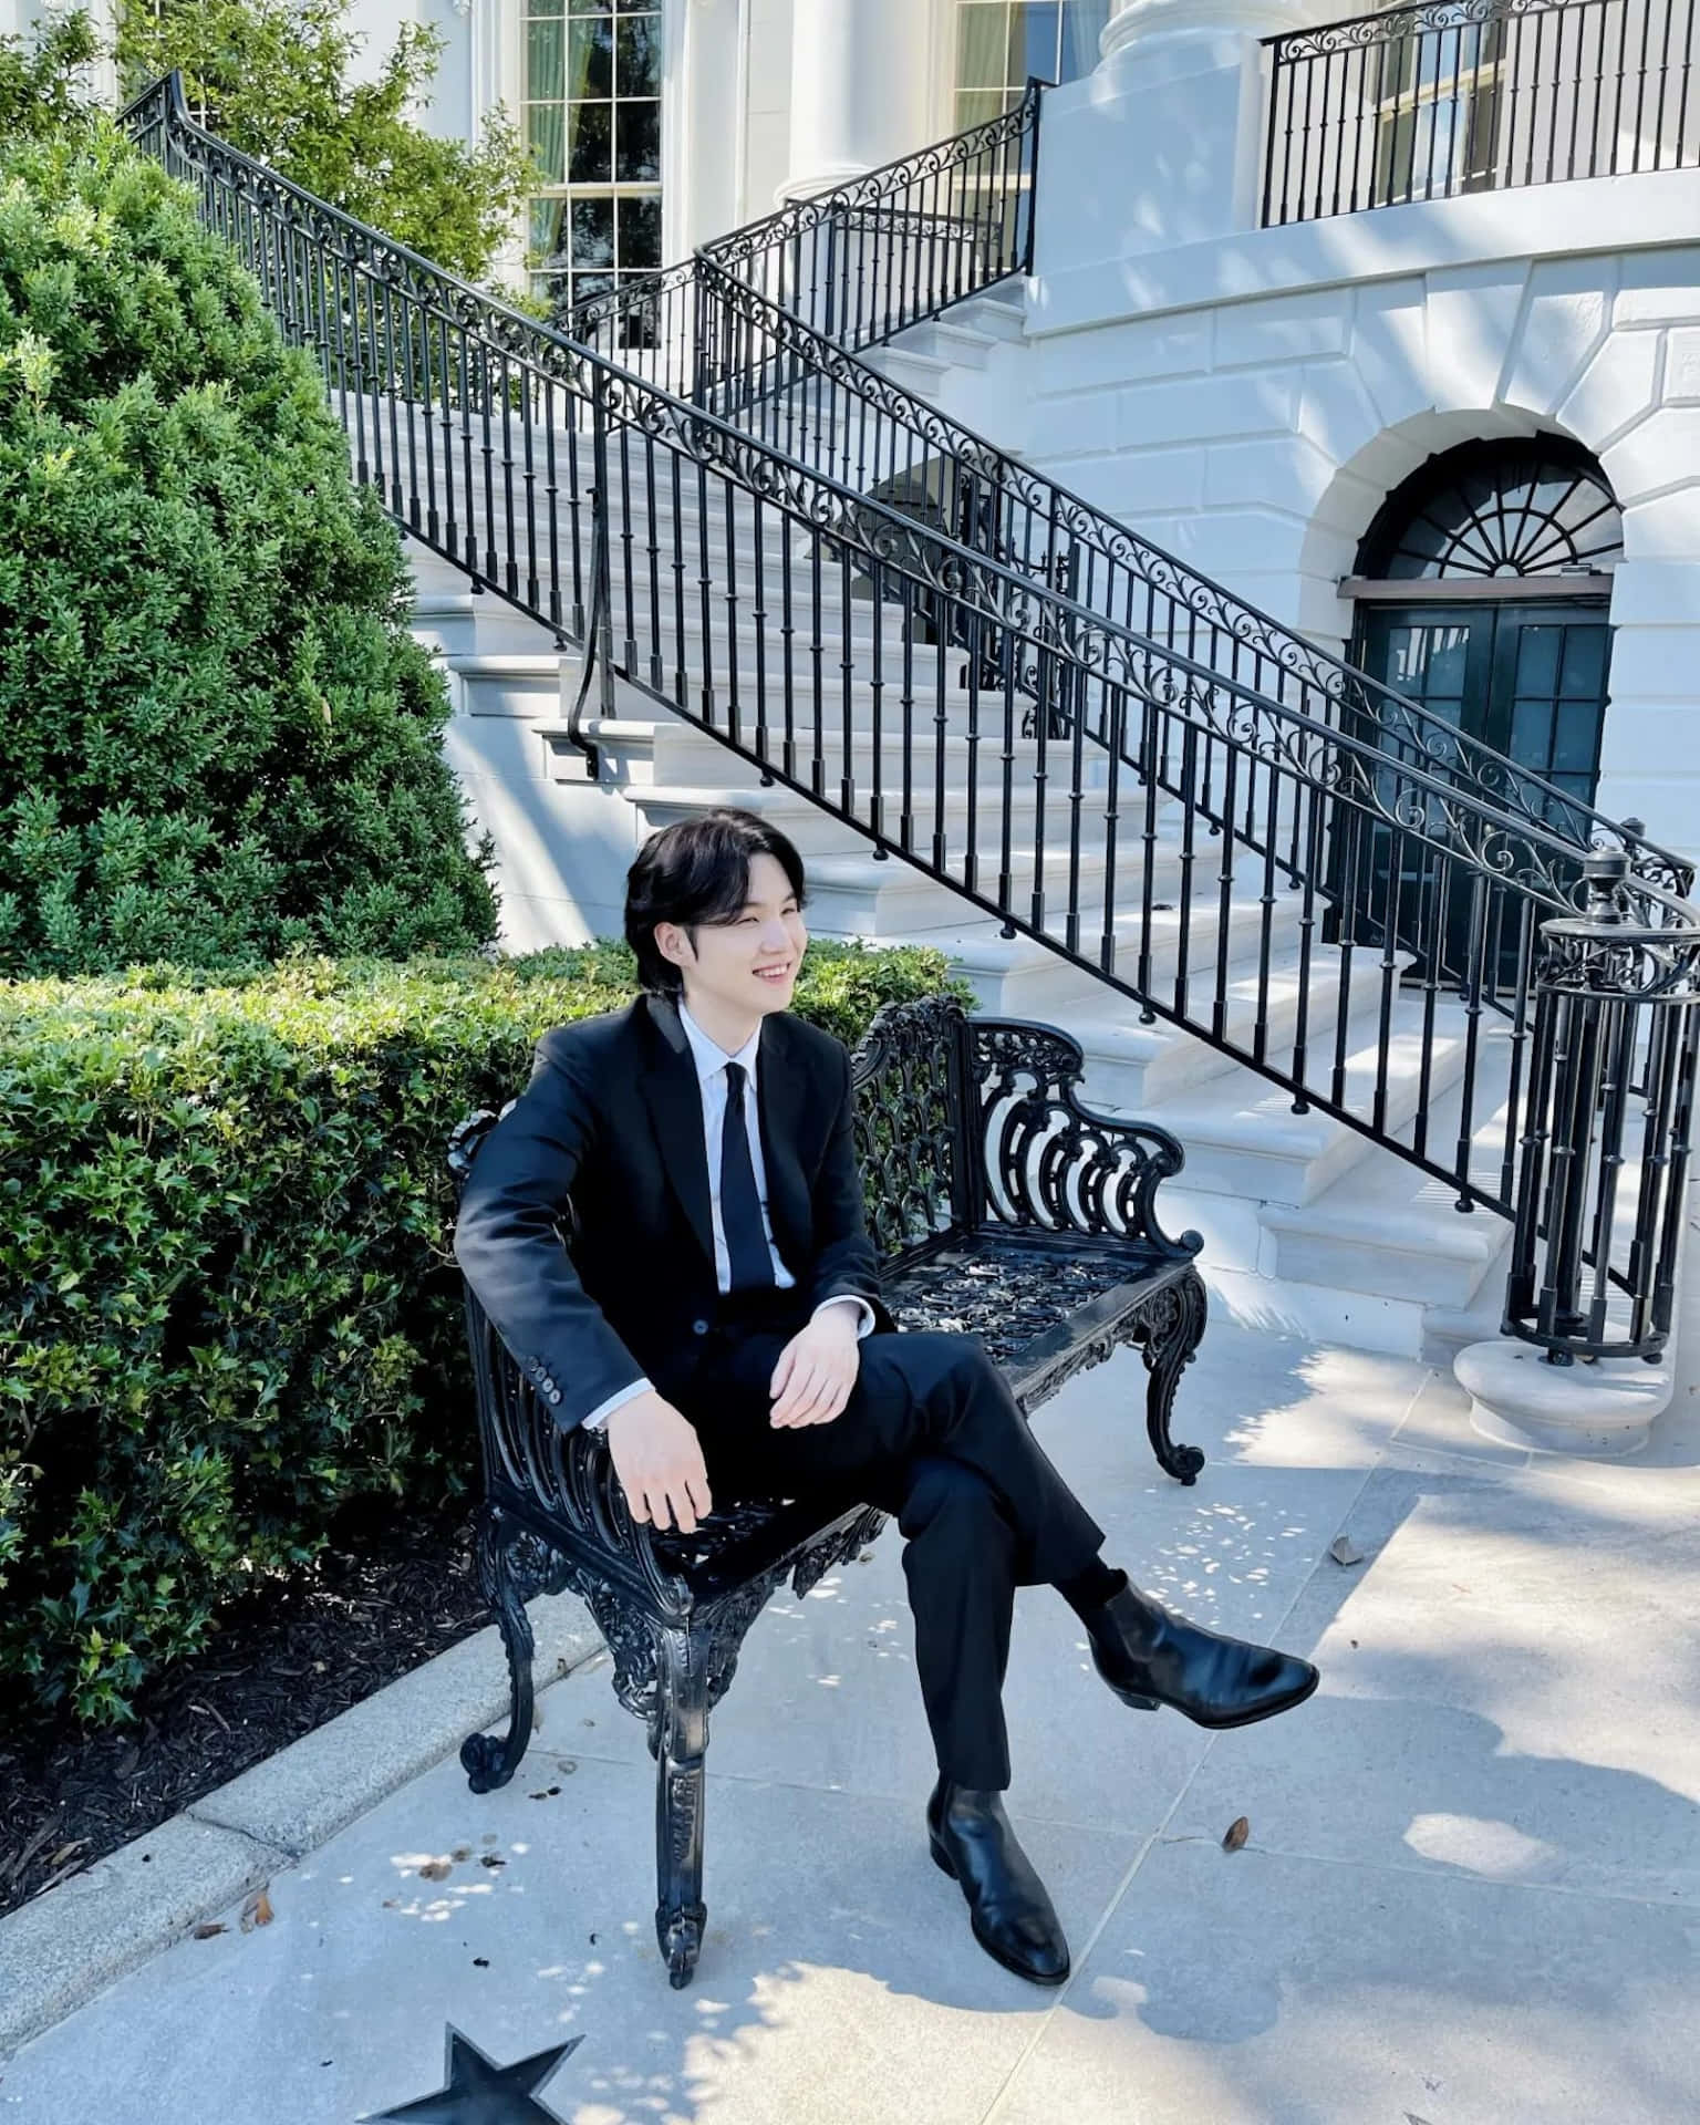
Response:
[{"label": "low flat-topped green hedge directly behind the bench", "polygon": [[[939,988],[818,941],[797,1012]],[[0,984],[0,1698],[128,1719],[338,1507],[465,1496],[448,1130],[631,992],[606,944]]]}]

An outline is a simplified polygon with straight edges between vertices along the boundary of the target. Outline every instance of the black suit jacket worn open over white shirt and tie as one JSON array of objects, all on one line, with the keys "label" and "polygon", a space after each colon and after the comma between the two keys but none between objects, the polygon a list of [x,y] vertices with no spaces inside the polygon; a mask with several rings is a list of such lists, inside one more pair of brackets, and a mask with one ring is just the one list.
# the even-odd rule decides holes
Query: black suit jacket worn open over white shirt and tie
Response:
[{"label": "black suit jacket worn open over white shirt and tie", "polygon": [[[780,1012],[756,1069],[767,1211],[812,1311],[880,1298],[850,1135],[850,1054]],[[572,1192],[572,1254],[565,1228]],[[718,1298],[697,1065],[672,1003],[552,1026],[472,1160],[455,1258],[563,1430],[648,1375],[688,1375]]]}]

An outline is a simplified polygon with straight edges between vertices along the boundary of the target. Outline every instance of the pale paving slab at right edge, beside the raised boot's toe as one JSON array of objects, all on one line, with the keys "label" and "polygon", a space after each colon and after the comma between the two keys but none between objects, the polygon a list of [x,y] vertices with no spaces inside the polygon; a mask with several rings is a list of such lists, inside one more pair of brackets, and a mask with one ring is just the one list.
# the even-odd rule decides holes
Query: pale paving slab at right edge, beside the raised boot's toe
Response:
[{"label": "pale paving slab at right edge, beside the raised boot's toe", "polygon": [[1322,1687],[1213,1751],[1169,1834],[1700,1906],[1700,1524],[1390,1454],[1290,1632]]}]

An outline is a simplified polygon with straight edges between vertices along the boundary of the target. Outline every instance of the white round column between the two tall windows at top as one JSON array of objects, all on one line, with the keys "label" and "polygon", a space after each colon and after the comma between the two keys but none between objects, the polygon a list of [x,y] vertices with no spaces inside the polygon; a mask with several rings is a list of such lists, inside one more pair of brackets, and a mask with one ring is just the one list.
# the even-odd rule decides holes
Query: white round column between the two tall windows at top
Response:
[{"label": "white round column between the two tall windows at top", "polygon": [[926,144],[929,34],[918,0],[793,0],[790,166],[778,200]]}]

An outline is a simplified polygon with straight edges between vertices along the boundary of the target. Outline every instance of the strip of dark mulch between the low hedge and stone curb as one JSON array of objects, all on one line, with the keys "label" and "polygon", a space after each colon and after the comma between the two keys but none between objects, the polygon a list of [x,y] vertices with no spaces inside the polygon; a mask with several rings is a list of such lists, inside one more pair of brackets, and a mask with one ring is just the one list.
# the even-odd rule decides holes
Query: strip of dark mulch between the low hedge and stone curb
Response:
[{"label": "strip of dark mulch between the low hedge and stone curb", "polygon": [[0,1711],[0,1915],[489,1621],[472,1507],[438,1526],[382,1513],[234,1604],[202,1653],[147,1683],[132,1726]]}]

